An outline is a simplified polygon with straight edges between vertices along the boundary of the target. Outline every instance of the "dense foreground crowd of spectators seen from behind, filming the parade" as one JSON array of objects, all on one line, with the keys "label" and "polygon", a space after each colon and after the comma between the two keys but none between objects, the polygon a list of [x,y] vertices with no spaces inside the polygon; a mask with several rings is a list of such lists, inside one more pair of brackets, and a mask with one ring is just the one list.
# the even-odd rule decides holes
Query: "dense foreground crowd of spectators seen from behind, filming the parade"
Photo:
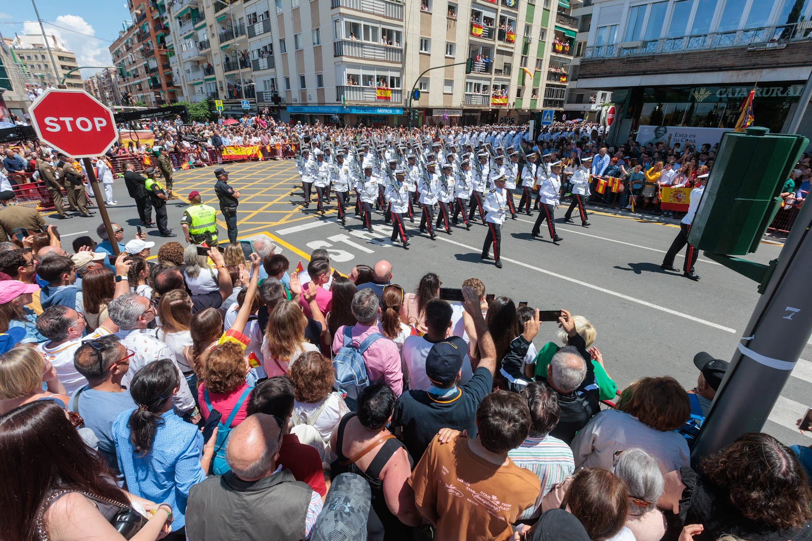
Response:
[{"label": "dense foreground crowd of spectators seen from behind, filming the parade", "polygon": [[812,539],[809,449],[691,467],[708,354],[617,393],[585,316],[476,277],[116,237],[0,246],[4,539]]}]

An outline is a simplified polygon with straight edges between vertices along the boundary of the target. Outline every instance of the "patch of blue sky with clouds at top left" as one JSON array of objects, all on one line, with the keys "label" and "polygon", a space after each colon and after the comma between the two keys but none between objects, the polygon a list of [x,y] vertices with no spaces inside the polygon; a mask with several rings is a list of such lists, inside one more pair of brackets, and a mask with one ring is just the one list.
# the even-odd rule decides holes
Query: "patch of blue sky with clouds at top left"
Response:
[{"label": "patch of blue sky with clouds at top left", "polygon": [[[124,20],[130,20],[125,0],[36,0],[45,33],[57,36],[76,53],[80,66],[110,65],[107,49],[119,35]],[[61,28],[60,28],[61,27]],[[3,37],[40,33],[31,0],[0,3],[0,32]],[[95,70],[83,70],[90,75]]]}]

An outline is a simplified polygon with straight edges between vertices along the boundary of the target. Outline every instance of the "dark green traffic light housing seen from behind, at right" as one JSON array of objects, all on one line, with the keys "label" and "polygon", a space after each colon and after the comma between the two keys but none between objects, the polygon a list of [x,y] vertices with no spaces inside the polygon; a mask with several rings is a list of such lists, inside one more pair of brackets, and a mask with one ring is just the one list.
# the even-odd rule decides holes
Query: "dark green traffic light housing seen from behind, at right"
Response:
[{"label": "dark green traffic light housing seen from behind, at right", "polygon": [[801,135],[770,134],[764,127],[724,133],[688,242],[712,254],[756,251],[808,144]]}]

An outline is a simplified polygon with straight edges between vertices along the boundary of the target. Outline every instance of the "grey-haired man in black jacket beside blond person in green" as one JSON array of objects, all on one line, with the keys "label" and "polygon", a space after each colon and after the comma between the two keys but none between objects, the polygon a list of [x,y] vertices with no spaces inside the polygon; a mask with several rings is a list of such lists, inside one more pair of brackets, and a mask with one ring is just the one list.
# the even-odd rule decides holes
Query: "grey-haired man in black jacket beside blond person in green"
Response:
[{"label": "grey-haired man in black jacket beside blond person in green", "polygon": [[558,350],[547,367],[545,383],[558,395],[561,418],[558,425],[550,432],[551,436],[572,443],[575,433],[581,430],[600,410],[598,386],[591,383],[587,366],[577,347],[566,346]]}]

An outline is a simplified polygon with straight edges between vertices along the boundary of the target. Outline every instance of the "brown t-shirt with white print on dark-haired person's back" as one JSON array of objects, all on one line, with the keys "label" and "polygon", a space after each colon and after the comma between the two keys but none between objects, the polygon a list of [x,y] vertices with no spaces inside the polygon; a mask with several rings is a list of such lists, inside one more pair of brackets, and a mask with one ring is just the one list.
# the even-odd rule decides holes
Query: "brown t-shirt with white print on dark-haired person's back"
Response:
[{"label": "brown t-shirt with white print on dark-haired person's back", "polygon": [[431,440],[408,480],[417,505],[437,516],[434,539],[510,539],[510,525],[541,492],[538,477],[477,457],[468,438]]}]

